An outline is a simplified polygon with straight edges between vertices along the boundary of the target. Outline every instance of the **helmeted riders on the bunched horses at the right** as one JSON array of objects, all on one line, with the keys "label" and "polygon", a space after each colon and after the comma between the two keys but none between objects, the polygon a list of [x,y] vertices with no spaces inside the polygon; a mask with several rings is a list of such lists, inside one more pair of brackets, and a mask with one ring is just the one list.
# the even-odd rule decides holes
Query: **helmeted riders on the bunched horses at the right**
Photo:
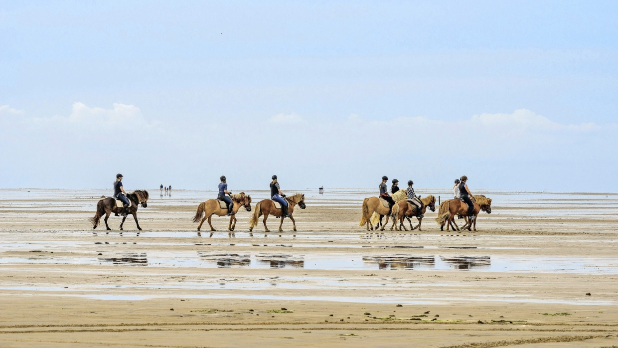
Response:
[{"label": "helmeted riders on the bunched horses at the right", "polygon": [[[391,193],[399,192],[400,189],[398,185],[399,180],[392,179],[391,192],[389,193],[386,187],[387,181],[388,181],[388,177],[383,176],[382,182],[379,185],[379,190],[380,190],[379,198],[382,198],[383,200],[388,202],[389,215],[390,215],[392,211],[392,206],[396,204],[395,201],[391,197]],[[467,181],[468,181],[467,176],[462,176],[460,177],[460,179],[455,179],[455,185],[453,186],[453,195],[454,195],[454,198],[463,200],[468,205],[468,219],[474,219],[474,203],[472,202],[472,199],[470,199],[470,196],[472,196],[472,193],[470,192],[470,189],[468,189],[468,185],[466,184]],[[408,196],[407,202],[417,207],[417,218],[424,218],[425,216],[422,213],[423,202],[421,201],[420,197],[415,195],[412,185],[414,185],[414,182],[412,180],[408,180],[408,188],[405,189],[405,193]]]}]

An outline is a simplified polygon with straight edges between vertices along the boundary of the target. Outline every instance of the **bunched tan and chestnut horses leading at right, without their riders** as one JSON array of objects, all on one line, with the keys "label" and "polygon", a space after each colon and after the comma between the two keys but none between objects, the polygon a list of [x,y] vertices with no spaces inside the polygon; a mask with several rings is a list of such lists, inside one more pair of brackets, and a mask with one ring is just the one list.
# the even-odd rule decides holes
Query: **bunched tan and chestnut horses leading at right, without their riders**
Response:
[{"label": "bunched tan and chestnut horses leading at right, without their riders", "polygon": [[[418,207],[407,202],[407,193],[405,190],[399,190],[393,193],[391,197],[395,201],[395,205],[391,208],[389,208],[389,204],[386,200],[382,198],[365,198],[365,200],[363,200],[363,216],[358,226],[366,226],[367,231],[373,231],[374,225],[376,225],[376,230],[379,228],[381,231],[384,231],[385,226],[382,224],[382,218],[386,216],[386,223],[388,223],[389,219],[392,219],[391,231],[393,228],[396,229],[396,231],[400,231],[401,228],[407,231],[408,229],[405,228],[404,219],[408,219],[410,230],[414,231],[418,229],[418,231],[422,231],[421,223],[423,218],[418,217]],[[474,203],[474,219],[468,219],[468,205],[462,200],[454,198],[440,203],[438,218],[436,218],[436,223],[440,225],[440,231],[444,231],[445,224],[446,231],[450,231],[449,227],[452,227],[453,230],[460,231],[460,227],[457,226],[457,223],[454,221],[455,216],[463,216],[465,219],[464,225],[461,227],[462,230],[467,229],[468,231],[472,231],[472,229],[474,229],[474,231],[476,231],[476,217],[478,213],[485,211],[491,214],[491,198],[487,198],[483,195],[476,195],[471,198]],[[431,211],[436,211],[436,197],[433,195],[421,198],[421,203],[423,203],[423,207],[420,211],[421,215],[425,214],[427,208]],[[413,217],[418,219],[417,226],[412,226],[410,218]]]}]

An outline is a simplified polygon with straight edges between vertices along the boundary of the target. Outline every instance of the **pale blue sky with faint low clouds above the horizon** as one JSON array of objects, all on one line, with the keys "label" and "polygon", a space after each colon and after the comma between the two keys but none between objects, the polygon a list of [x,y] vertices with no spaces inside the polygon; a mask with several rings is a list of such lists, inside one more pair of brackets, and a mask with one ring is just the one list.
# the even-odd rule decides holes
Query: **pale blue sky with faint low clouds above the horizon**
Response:
[{"label": "pale blue sky with faint low clouds above the horizon", "polygon": [[616,192],[615,1],[0,1],[0,187]]}]

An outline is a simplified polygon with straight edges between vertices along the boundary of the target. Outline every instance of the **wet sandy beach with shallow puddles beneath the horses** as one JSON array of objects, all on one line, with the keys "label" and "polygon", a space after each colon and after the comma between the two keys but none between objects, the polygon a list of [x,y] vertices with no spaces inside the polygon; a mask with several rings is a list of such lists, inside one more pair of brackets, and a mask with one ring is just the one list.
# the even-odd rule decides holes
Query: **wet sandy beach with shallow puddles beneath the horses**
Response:
[{"label": "wet sandy beach with shallow puddles beneath the horses", "polygon": [[150,190],[121,236],[121,218],[88,223],[106,190],[3,190],[0,346],[618,346],[618,194],[477,191],[493,212],[476,232],[431,212],[366,231],[375,192],[327,189],[303,191],[297,232],[271,217],[250,235],[241,210],[200,237],[214,192]]}]

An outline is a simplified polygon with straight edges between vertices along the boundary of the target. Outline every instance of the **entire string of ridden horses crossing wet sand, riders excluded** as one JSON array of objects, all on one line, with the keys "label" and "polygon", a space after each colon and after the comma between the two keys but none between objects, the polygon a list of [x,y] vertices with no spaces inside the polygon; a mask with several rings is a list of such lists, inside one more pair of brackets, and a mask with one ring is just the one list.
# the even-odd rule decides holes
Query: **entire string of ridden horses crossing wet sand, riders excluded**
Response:
[{"label": "entire string of ridden horses crossing wet sand, riders excluded", "polygon": [[[125,219],[127,219],[127,216],[129,214],[133,215],[133,219],[135,219],[137,229],[139,231],[142,231],[142,228],[137,221],[137,208],[138,205],[146,208],[146,206],[148,206],[148,197],[148,191],[146,190],[135,190],[127,195],[127,198],[129,198],[131,205],[128,208],[127,214],[122,218],[122,222],[120,224],[121,231],[123,231],[122,225],[124,224],[124,221]],[[232,199],[232,212],[234,212],[234,214],[230,216],[230,221],[227,229],[229,229],[229,231],[234,231],[236,227],[235,213],[240,210],[240,207],[245,208],[245,210],[247,211],[252,211],[251,196],[246,195],[244,192],[240,192],[235,195],[230,195],[230,198]],[[397,231],[400,231],[400,229],[402,228],[407,231],[407,228],[404,225],[404,219],[407,219],[408,223],[410,223],[410,230],[414,231],[415,229],[418,229],[418,231],[422,231],[421,223],[423,218],[418,217],[417,206],[407,202],[407,194],[405,193],[405,190],[399,190],[399,192],[393,193],[392,198],[396,202],[396,204],[392,206],[392,208],[389,208],[388,204],[384,203],[386,201],[382,200],[381,198],[365,198],[362,205],[363,215],[358,226],[366,226],[367,231],[370,231],[370,229],[371,231],[373,231],[374,225],[376,225],[376,230],[379,228],[381,231],[384,231],[385,226],[384,224],[382,224],[382,218],[386,216],[386,223],[388,223],[389,219],[392,219],[391,231],[393,228]],[[306,208],[305,195],[303,193],[296,193],[295,195],[285,197],[284,199],[288,203],[288,213],[290,214],[290,220],[292,220],[294,231],[296,231],[296,221],[294,220],[293,216],[294,207],[298,205],[301,209]],[[446,225],[446,231],[449,231],[449,227],[452,227],[454,230],[459,231],[460,227],[457,226],[457,223],[455,223],[454,221],[455,216],[463,216],[465,218],[464,226],[461,227],[462,230],[470,230],[471,228],[473,228],[474,231],[476,231],[476,217],[478,216],[478,214],[481,211],[485,211],[488,214],[491,213],[491,198],[487,198],[483,195],[476,195],[472,197],[472,201],[474,202],[474,219],[467,218],[468,205],[462,200],[452,199],[442,202],[438,208],[438,218],[436,218],[436,223],[440,225],[440,231],[443,231],[444,225]],[[421,202],[423,203],[421,214],[425,214],[427,208],[429,208],[431,211],[436,211],[436,197],[434,197],[433,195],[428,195],[424,198],[421,198]],[[122,206],[119,206],[114,198],[108,197],[99,200],[96,205],[95,216],[93,216],[93,218],[90,218],[90,222],[93,225],[92,229],[96,229],[96,227],[99,226],[101,218],[104,215],[105,227],[107,231],[111,231],[111,228],[109,228],[108,225],[109,216],[111,216],[112,213],[116,214],[117,216],[121,212]],[[193,223],[200,223],[197,227],[198,233],[200,232],[201,226],[206,221],[206,219],[208,219],[210,231],[216,231],[216,229],[214,229],[213,227],[213,224],[211,224],[211,218],[213,215],[227,215],[227,208],[222,208],[219,200],[211,199],[198,205],[197,212],[195,213],[195,216],[193,216]],[[276,208],[273,200],[265,199],[261,200],[255,205],[255,210],[253,210],[253,214],[251,216],[251,219],[249,220],[249,232],[253,231],[253,227],[258,224],[258,219],[262,215],[264,216],[262,222],[264,224],[265,232],[270,232],[270,230],[266,226],[266,219],[268,219],[269,215],[281,218],[281,221],[279,223],[279,232],[283,231],[282,225],[284,218],[282,217],[281,208]],[[418,219],[418,224],[416,226],[412,226],[412,221],[410,220],[410,218],[413,217],[416,217]]]}]

